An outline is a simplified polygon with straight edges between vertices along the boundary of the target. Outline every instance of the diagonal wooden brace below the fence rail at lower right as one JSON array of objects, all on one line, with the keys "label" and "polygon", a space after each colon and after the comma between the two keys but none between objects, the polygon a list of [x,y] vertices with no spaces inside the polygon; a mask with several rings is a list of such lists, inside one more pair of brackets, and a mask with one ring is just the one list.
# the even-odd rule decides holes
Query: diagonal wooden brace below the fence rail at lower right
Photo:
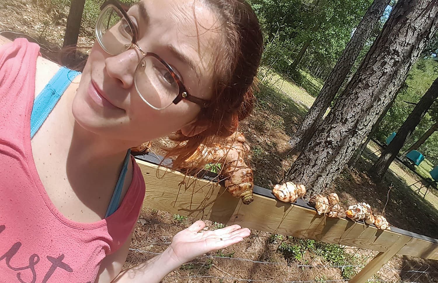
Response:
[{"label": "diagonal wooden brace below the fence rail at lower right", "polygon": [[366,283],[371,276],[376,274],[410,240],[410,237],[400,237],[387,251],[379,252],[349,283]]}]

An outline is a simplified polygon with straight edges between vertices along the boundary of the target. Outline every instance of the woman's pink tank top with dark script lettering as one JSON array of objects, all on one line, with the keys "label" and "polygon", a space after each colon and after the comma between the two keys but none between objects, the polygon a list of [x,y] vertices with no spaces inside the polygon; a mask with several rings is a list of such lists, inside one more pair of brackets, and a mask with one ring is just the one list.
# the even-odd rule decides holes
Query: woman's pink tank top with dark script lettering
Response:
[{"label": "woman's pink tank top with dark script lettering", "polygon": [[38,56],[26,39],[0,46],[0,283],[92,283],[137,222],[145,182],[131,157],[132,183],[112,215],[78,223],[56,209],[32,157]]}]

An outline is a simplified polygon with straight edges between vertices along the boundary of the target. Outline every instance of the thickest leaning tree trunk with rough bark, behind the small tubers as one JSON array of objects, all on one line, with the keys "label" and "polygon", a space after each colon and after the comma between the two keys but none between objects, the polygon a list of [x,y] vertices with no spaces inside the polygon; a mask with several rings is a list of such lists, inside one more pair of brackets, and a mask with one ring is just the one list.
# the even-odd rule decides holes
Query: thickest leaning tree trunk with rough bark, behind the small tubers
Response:
[{"label": "thickest leaning tree trunk with rough bark, behind the small tubers", "polygon": [[321,192],[342,172],[438,28],[438,0],[399,0],[335,106],[291,169]]}]

